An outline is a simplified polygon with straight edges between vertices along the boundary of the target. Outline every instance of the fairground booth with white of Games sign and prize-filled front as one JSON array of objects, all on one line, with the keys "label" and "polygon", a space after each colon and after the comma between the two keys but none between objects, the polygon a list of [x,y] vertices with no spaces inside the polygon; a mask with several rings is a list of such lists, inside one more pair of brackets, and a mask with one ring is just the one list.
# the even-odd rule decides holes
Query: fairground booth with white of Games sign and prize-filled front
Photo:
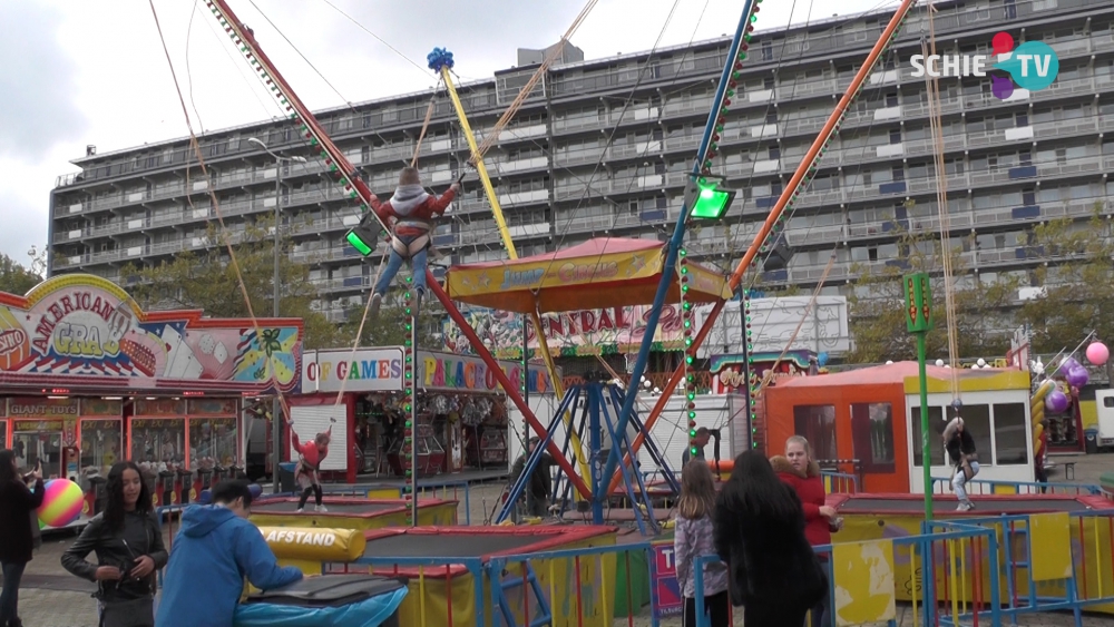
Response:
[{"label": "fairground booth with white of Games sign and prize-filled front", "polygon": [[[511,381],[520,380],[521,362],[499,363]],[[400,455],[405,422],[402,373],[402,346],[305,354],[302,393],[290,399],[299,438],[310,441],[330,424],[349,425],[333,428],[331,449],[349,454],[326,457],[322,462],[326,474],[343,476],[348,482],[354,482],[358,474],[404,474]],[[506,469],[506,396],[483,361],[419,351],[417,374],[414,452],[419,477]],[[553,395],[553,382],[544,366],[531,364],[527,380],[528,395]]]}]

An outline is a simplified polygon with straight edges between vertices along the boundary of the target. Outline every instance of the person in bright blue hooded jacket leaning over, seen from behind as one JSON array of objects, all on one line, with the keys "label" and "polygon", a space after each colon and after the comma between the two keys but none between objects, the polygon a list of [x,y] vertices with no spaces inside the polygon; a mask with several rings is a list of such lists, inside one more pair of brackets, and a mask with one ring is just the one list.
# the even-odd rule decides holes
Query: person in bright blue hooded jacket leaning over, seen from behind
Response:
[{"label": "person in bright blue hooded jacket leaning over, seen from behind", "polygon": [[166,566],[158,627],[232,627],[244,577],[261,590],[302,579],[297,568],[278,566],[258,528],[245,520],[252,492],[243,480],[213,488],[213,504],[182,515]]}]

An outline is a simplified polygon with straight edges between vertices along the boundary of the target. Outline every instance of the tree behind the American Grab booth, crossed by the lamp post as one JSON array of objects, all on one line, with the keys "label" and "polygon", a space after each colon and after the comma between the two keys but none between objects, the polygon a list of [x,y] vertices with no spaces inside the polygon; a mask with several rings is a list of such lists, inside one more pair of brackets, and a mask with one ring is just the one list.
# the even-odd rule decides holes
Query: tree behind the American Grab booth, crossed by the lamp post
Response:
[{"label": "tree behind the American Grab booth, crossed by the lamp post", "polygon": [[[260,218],[244,225],[243,231],[228,233],[256,317],[272,315],[273,224],[273,221]],[[120,280],[125,284],[134,282],[129,287],[133,296],[148,310],[198,308],[211,317],[251,317],[224,239],[215,225],[209,226],[206,237],[217,245],[198,254],[189,251],[180,253],[173,261],[156,266],[128,264],[121,268]],[[281,315],[304,321],[306,349],[341,345],[343,341],[336,324],[311,306],[317,297],[317,290],[310,281],[309,267],[291,258],[289,235],[281,237],[278,245]]]}]

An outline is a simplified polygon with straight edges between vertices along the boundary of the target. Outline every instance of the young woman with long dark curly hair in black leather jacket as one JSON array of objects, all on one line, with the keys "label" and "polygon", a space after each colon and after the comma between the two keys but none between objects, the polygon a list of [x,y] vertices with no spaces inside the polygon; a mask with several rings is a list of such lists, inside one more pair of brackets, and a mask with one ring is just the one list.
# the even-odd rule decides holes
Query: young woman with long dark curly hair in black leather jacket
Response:
[{"label": "young woman with long dark curly hair in black leather jacket", "polygon": [[[106,488],[105,511],[62,553],[62,566],[97,582],[100,627],[153,627],[155,571],[166,566],[167,552],[150,492],[131,461],[108,471]],[[96,565],[85,559],[90,552]]]}]

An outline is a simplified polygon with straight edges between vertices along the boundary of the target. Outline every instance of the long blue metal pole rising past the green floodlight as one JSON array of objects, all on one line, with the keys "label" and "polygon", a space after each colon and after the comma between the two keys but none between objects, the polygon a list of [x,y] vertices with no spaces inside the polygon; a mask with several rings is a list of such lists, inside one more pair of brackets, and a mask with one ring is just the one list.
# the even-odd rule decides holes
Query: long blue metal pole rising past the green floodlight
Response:
[{"label": "long blue metal pole rising past the green floodlight", "polygon": [[[746,0],[743,4],[743,14],[739,19],[739,26],[735,27],[735,36],[731,40],[731,48],[727,50],[727,62],[723,66],[723,72],[720,75],[720,85],[715,89],[715,104],[712,107],[712,111],[707,116],[707,124],[704,125],[704,137],[700,140],[700,148],[696,150],[696,163],[693,164],[693,176],[700,176],[701,166],[704,165],[704,158],[707,156],[707,146],[712,143],[712,134],[715,131],[715,121],[720,117],[720,109],[723,107],[724,94],[727,90],[727,82],[731,80],[732,69],[735,67],[735,58],[739,56],[739,46],[743,41],[743,35],[746,32],[746,25],[750,21],[751,16],[751,4],[755,0]],[[673,229],[673,237],[670,238],[668,245],[665,253],[665,267],[662,268],[662,281],[657,284],[657,293],[654,294],[654,304],[649,311],[649,319],[646,320],[646,334],[642,339],[642,345],[638,347],[638,359],[634,363],[634,371],[631,372],[631,384],[627,385],[626,398],[623,400],[623,409],[619,413],[619,423],[617,425],[617,431],[619,433],[625,433],[627,428],[627,421],[631,418],[631,412],[634,411],[634,401],[638,395],[638,381],[642,381],[642,374],[646,371],[646,362],[649,360],[649,349],[654,344],[654,334],[657,332],[657,321],[662,314],[662,307],[665,306],[665,295],[670,291],[670,283],[673,281],[673,266],[677,263],[677,251],[681,249],[681,244],[685,239],[685,223],[688,221],[690,207],[687,203],[682,203],[681,215],[677,216],[677,225]],[[622,460],[622,458],[618,458]],[[632,460],[634,461],[634,460]],[[616,458],[610,457],[607,459],[607,466],[604,468],[604,477],[606,480],[596,483],[596,499],[604,498],[603,491],[607,490],[610,486],[612,476],[615,474]]]}]

